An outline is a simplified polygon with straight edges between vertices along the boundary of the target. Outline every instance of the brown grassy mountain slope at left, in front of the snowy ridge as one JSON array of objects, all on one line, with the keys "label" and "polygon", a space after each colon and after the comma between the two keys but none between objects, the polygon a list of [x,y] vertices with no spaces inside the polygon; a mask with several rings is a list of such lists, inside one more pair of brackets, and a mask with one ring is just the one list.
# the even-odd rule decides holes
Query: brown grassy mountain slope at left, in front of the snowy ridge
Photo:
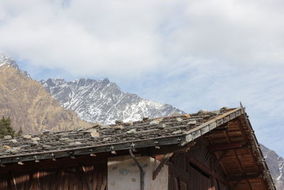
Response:
[{"label": "brown grassy mountain slope at left, in front of the snowy ridge", "polygon": [[40,83],[4,55],[0,56],[0,116],[10,117],[13,128],[22,127],[24,134],[90,126],[61,107]]}]

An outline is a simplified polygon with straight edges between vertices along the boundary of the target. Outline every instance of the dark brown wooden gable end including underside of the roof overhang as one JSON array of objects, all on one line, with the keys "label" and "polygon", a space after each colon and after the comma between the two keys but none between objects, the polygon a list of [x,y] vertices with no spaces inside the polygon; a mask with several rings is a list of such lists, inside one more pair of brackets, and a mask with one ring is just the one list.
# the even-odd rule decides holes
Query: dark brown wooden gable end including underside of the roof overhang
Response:
[{"label": "dark brown wooden gable end including underside of the roof overhang", "polygon": [[245,115],[199,137],[169,163],[169,190],[269,189],[265,162]]}]

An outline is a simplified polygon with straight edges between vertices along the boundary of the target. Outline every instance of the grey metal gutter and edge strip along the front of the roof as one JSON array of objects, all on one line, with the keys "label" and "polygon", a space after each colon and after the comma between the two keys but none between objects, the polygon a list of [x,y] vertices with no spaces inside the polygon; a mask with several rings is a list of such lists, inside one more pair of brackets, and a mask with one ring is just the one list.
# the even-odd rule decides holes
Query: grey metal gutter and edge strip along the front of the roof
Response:
[{"label": "grey metal gutter and edge strip along the front of the roof", "polygon": [[134,149],[134,148],[146,148],[146,147],[155,147],[155,146],[165,146],[170,144],[181,144],[182,146],[188,142],[193,141],[197,137],[202,136],[203,134],[214,130],[220,125],[224,125],[226,122],[233,120],[236,117],[239,117],[243,112],[241,108],[236,108],[229,112],[226,112],[219,117],[209,120],[199,127],[195,127],[192,130],[189,130],[183,134],[173,135],[171,137],[158,137],[153,139],[141,139],[136,141],[129,142],[116,142],[110,144],[99,144],[88,147],[77,147],[73,149],[60,149],[53,150],[49,152],[33,152],[28,154],[15,154],[9,157],[0,157],[1,164],[9,164],[14,162],[27,162],[27,161],[38,161],[42,159],[56,159],[61,157],[75,157],[77,155],[84,154],[97,154],[102,152],[116,152],[119,150]]}]

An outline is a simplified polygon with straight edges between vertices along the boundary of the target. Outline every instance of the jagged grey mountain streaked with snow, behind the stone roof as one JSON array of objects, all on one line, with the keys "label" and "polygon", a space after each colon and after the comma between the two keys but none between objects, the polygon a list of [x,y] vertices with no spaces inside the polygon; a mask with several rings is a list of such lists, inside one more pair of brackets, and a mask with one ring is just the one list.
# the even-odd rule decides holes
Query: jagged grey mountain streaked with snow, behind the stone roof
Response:
[{"label": "jagged grey mountain streaked with snow, behind the stone roof", "polygon": [[[182,112],[177,108],[124,93],[116,83],[104,80],[40,80],[62,107],[74,110],[87,122],[114,123],[115,120],[141,120]],[[183,113],[183,112],[182,112]]]}]

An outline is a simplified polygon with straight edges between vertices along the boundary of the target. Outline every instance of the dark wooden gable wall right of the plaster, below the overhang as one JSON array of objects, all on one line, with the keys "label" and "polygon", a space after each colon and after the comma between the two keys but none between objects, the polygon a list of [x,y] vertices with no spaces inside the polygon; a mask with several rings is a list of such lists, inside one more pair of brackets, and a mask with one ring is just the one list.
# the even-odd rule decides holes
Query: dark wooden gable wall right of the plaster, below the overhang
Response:
[{"label": "dark wooden gable wall right of the plaster, below the overhang", "polygon": [[229,189],[217,159],[202,142],[189,152],[175,154],[169,164],[169,190]]}]

